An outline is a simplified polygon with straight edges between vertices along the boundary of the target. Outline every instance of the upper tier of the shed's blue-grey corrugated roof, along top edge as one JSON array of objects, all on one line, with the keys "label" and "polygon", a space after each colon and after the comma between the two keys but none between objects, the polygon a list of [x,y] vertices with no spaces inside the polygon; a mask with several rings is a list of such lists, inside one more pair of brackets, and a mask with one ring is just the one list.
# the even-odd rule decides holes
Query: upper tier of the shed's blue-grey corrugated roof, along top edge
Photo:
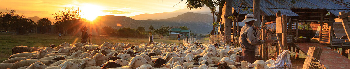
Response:
[{"label": "upper tier of the shed's blue-grey corrugated roof, along top edge", "polygon": [[[241,0],[232,0],[232,7],[239,7]],[[295,4],[292,0],[261,0],[260,8],[310,8],[310,9],[350,9],[349,0],[299,0]],[[253,0],[244,0],[242,7],[253,7]]]}]

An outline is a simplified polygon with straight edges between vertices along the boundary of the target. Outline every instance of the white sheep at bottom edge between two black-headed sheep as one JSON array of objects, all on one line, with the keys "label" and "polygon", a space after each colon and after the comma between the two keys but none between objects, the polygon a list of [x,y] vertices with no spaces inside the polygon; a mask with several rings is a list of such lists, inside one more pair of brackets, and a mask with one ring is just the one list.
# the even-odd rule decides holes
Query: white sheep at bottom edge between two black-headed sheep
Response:
[{"label": "white sheep at bottom edge between two black-headed sheep", "polygon": [[[137,55],[134,58],[132,58],[131,62],[127,66],[118,67],[118,68],[111,68],[111,69],[136,69],[144,64],[148,64],[147,60],[145,58],[142,58],[141,56]],[[151,66],[151,65],[149,65],[149,66]]]}]

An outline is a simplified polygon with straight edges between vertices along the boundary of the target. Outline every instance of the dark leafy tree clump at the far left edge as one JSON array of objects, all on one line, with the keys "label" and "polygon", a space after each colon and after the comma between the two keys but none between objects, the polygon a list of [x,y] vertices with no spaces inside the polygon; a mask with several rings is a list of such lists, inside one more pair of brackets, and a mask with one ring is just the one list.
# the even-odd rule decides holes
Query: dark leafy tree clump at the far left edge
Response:
[{"label": "dark leafy tree clump at the far left edge", "polygon": [[26,34],[36,26],[36,23],[27,19],[26,16],[16,14],[14,9],[7,8],[7,11],[0,13],[0,29],[15,30],[19,32],[18,34]]}]

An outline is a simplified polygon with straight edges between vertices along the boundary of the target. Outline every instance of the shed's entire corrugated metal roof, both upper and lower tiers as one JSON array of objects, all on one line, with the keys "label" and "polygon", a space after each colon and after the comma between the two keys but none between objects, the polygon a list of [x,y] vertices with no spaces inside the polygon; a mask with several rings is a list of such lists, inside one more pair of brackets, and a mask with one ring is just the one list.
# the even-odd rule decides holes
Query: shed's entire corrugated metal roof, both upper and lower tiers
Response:
[{"label": "shed's entire corrugated metal roof, both upper and lower tiers", "polygon": [[[232,0],[233,10],[238,11],[242,0]],[[292,0],[261,0],[260,8],[266,15],[275,15],[276,11],[287,16],[299,16],[290,9],[327,9],[327,11],[339,15],[339,12],[350,12],[350,0],[299,0],[295,4]],[[240,11],[239,14],[251,14],[253,0],[244,0],[241,9],[247,7],[248,11]]]}]

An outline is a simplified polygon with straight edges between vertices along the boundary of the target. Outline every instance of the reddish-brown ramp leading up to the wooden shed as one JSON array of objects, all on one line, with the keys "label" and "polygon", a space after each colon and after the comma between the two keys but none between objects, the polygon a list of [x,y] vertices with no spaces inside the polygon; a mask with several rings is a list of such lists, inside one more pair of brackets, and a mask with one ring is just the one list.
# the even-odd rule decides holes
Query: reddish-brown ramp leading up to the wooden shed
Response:
[{"label": "reddish-brown ramp leading up to the wooden shed", "polygon": [[301,51],[307,54],[309,47],[321,47],[322,54],[320,58],[321,64],[323,64],[327,69],[349,69],[350,60],[337,51],[328,48],[320,43],[294,43]]}]

